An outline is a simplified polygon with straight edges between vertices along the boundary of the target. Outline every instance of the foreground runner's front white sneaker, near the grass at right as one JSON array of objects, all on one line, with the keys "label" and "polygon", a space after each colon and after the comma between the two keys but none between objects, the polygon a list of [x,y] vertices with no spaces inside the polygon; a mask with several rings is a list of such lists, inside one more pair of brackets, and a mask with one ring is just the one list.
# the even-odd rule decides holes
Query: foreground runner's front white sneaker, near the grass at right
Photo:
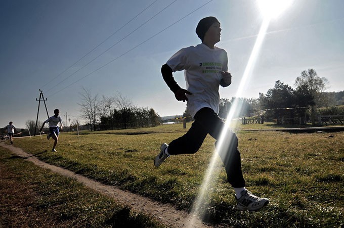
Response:
[{"label": "foreground runner's front white sneaker, near the grass at right", "polygon": [[238,202],[237,209],[239,211],[257,211],[269,204],[269,200],[267,198],[254,196],[247,190],[242,191],[240,194],[241,197],[236,199]]}]

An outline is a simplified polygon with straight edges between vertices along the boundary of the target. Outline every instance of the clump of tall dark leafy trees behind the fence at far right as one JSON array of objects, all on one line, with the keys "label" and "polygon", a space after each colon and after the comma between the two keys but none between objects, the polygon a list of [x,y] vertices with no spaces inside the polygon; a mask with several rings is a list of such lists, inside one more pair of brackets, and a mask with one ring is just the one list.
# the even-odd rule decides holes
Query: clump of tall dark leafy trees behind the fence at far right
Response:
[{"label": "clump of tall dark leafy trees behind the fence at far right", "polygon": [[268,118],[306,116],[314,123],[317,115],[315,107],[340,105],[340,101],[333,96],[335,93],[324,92],[327,85],[326,78],[319,77],[314,69],[308,69],[296,77],[295,88],[277,80],[275,87],[269,89],[267,94],[260,94],[260,104],[263,109],[268,109]]}]

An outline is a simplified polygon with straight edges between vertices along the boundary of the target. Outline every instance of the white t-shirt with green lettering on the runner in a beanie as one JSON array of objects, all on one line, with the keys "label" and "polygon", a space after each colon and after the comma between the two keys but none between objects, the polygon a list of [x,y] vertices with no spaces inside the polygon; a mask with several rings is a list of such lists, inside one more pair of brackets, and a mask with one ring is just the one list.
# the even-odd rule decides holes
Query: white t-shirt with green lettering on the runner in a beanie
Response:
[{"label": "white t-shirt with green lettering on the runner in a beanie", "polygon": [[228,57],[224,49],[210,49],[203,43],[198,44],[178,51],[167,61],[167,65],[174,72],[185,70],[186,89],[192,93],[186,95],[192,117],[205,107],[219,113],[221,71],[228,71]]}]

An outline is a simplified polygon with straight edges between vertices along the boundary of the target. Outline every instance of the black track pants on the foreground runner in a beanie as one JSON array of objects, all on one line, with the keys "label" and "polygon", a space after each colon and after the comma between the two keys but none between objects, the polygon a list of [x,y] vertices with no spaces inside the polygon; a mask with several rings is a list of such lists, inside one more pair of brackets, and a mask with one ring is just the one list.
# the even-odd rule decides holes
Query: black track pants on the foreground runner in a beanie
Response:
[{"label": "black track pants on the foreground runner in a beanie", "polygon": [[[225,122],[210,108],[200,109],[192,123],[191,128],[180,138],[168,145],[170,155],[194,154],[201,147],[205,136],[209,133],[212,138],[219,140]],[[218,141],[217,141],[218,143]],[[238,138],[236,134],[227,129],[227,136],[224,140],[222,151],[219,152],[221,160],[225,164],[227,180],[233,188],[245,186],[245,180],[241,171],[241,158],[238,151]]]}]

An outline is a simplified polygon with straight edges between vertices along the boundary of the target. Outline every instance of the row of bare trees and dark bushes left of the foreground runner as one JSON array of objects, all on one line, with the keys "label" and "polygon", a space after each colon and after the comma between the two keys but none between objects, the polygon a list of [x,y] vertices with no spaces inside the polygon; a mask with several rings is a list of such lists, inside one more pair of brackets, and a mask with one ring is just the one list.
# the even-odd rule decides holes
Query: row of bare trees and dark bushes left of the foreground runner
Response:
[{"label": "row of bare trees and dark bushes left of the foreground runner", "polygon": [[152,108],[137,107],[126,97],[93,96],[90,89],[82,88],[80,112],[91,130],[126,129],[159,125],[160,116]]}]

